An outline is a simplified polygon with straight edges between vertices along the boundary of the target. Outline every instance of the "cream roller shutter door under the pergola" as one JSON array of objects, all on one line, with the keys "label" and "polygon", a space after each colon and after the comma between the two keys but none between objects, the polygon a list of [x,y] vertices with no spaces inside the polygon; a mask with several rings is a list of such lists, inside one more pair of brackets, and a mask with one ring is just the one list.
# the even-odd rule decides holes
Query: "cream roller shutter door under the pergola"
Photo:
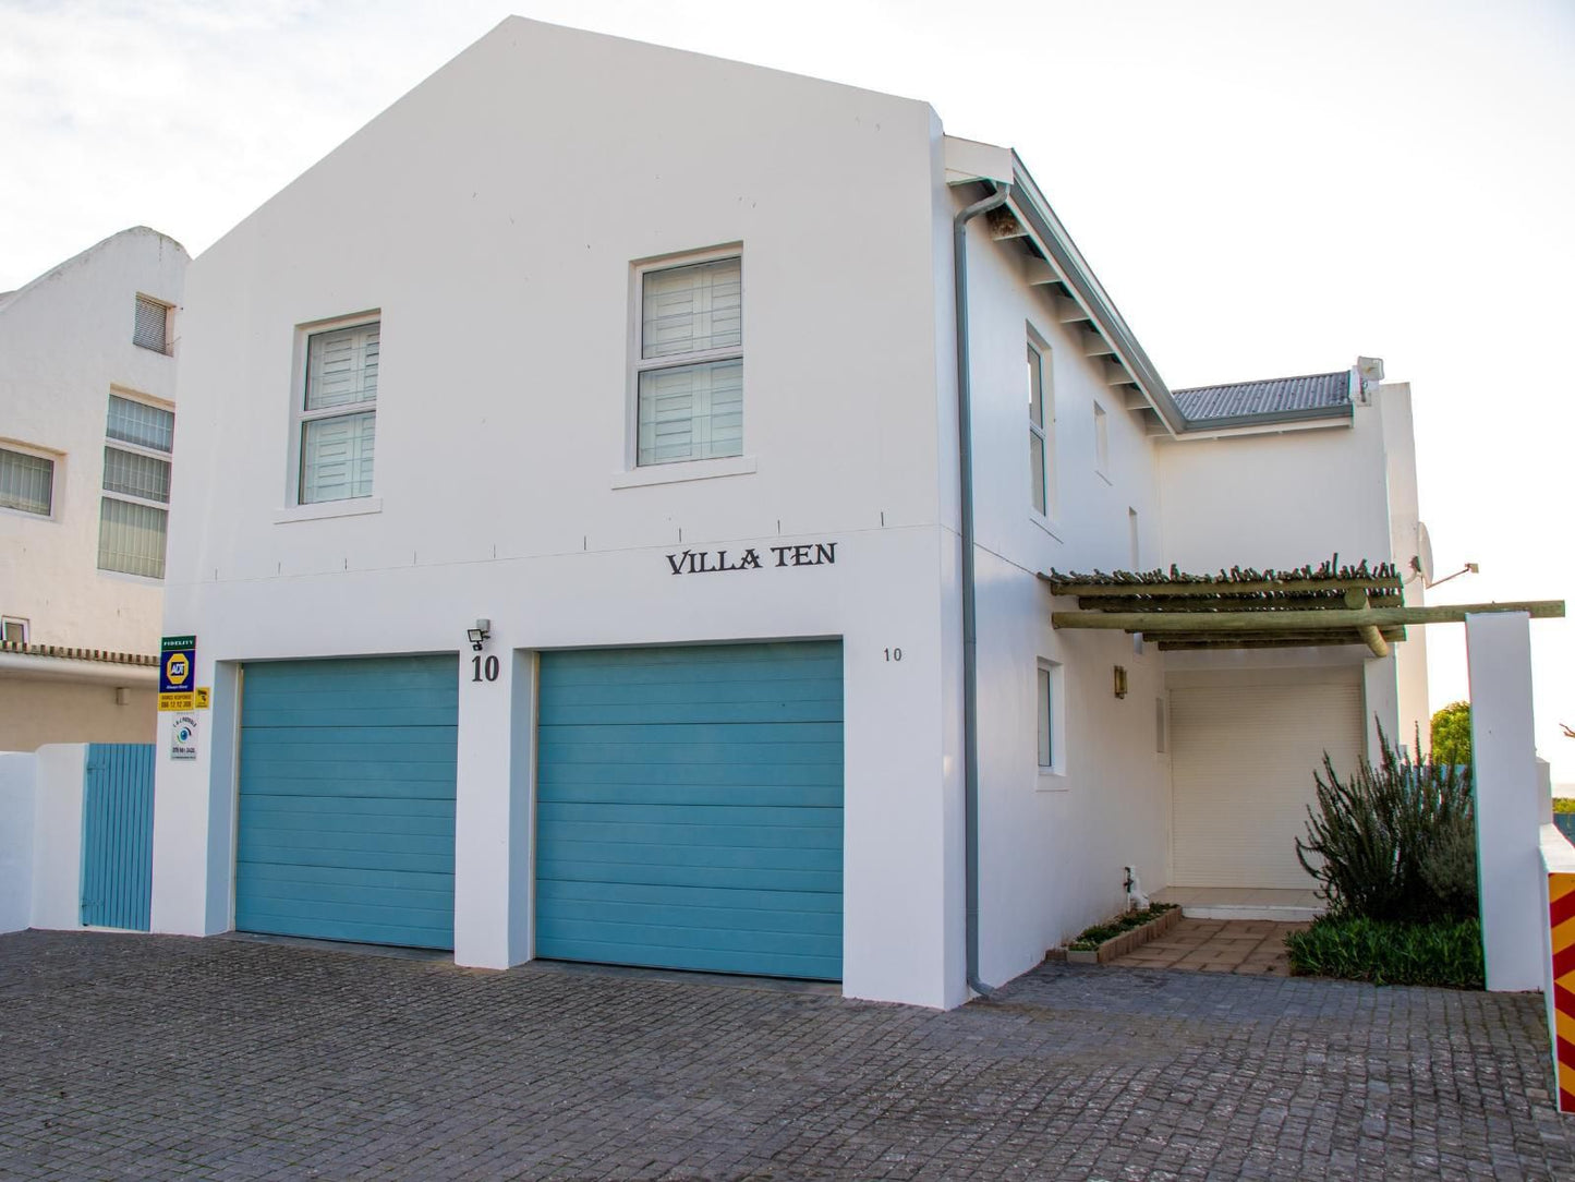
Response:
[{"label": "cream roller shutter door under the pergola", "polygon": [[1189,686],[1172,692],[1177,886],[1309,889],[1296,860],[1325,750],[1362,750],[1362,692],[1347,682]]}]

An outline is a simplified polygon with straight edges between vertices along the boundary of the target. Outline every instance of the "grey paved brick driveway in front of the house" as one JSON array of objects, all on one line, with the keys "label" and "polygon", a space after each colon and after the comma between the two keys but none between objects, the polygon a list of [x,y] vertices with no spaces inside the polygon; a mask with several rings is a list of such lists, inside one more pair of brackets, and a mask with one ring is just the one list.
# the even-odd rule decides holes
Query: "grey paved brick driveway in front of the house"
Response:
[{"label": "grey paved brick driveway in front of the house", "polygon": [[1046,966],[951,1013],[0,936],[3,1177],[1575,1177],[1536,998]]}]

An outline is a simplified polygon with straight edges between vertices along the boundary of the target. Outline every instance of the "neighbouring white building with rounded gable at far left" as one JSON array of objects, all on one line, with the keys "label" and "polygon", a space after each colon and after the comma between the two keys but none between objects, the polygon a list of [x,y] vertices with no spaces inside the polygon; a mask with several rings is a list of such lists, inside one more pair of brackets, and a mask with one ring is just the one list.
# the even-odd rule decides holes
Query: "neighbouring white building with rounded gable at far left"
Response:
[{"label": "neighbouring white building with rounded gable at far left", "polygon": [[0,750],[153,739],[187,262],[139,225],[0,295]]}]

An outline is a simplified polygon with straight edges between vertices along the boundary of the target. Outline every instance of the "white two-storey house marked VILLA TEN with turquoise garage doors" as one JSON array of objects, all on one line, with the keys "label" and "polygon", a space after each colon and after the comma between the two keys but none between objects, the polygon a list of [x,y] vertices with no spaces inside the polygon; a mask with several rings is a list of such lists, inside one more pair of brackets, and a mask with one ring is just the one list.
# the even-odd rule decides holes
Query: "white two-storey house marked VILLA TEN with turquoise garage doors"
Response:
[{"label": "white two-storey house marked VILLA TEN with turquoise garage doors", "polygon": [[1310,886],[1414,641],[1166,651],[1040,575],[1410,575],[1361,369],[1172,392],[1010,150],[509,19],[192,263],[153,927],[956,1005],[1126,867]]}]

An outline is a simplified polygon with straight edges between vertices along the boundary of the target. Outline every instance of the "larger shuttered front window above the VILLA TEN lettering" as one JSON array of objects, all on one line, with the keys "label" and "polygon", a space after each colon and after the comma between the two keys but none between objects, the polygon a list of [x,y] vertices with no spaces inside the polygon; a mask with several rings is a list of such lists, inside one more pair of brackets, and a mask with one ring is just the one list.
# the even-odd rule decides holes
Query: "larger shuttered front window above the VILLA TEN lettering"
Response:
[{"label": "larger shuttered front window above the VILLA TEN lettering", "polygon": [[650,265],[638,281],[635,462],[742,455],[742,258]]}]

